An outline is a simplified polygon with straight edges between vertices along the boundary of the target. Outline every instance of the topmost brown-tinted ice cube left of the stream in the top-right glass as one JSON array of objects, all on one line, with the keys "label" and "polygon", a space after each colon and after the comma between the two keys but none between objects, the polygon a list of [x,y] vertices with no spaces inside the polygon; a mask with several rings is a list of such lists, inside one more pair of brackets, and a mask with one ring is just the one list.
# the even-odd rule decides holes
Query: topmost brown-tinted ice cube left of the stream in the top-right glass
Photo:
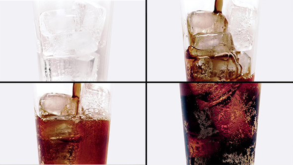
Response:
[{"label": "topmost brown-tinted ice cube left of the stream in the top-right glass", "polygon": [[225,32],[228,22],[222,13],[212,11],[193,11],[187,16],[191,36],[197,33]]}]

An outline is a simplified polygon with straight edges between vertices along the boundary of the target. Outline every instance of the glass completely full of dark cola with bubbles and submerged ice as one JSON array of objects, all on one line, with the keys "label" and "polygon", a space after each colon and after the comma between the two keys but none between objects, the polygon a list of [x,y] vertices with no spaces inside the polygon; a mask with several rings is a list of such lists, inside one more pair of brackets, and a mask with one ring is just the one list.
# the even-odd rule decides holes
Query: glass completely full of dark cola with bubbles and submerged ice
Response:
[{"label": "glass completely full of dark cola with bubbles and submerged ice", "polygon": [[254,165],[261,83],[180,83],[187,165]]}]

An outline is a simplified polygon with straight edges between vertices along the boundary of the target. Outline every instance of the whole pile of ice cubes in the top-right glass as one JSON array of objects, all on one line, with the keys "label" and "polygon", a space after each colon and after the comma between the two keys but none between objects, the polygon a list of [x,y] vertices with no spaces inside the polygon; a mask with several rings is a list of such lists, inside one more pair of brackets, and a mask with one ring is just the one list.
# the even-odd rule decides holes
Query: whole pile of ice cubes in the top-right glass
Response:
[{"label": "whole pile of ice cubes in the top-right glass", "polygon": [[228,2],[226,19],[221,13],[193,11],[187,16],[190,46],[186,51],[189,77],[228,81],[250,76],[256,9],[243,1]]}]

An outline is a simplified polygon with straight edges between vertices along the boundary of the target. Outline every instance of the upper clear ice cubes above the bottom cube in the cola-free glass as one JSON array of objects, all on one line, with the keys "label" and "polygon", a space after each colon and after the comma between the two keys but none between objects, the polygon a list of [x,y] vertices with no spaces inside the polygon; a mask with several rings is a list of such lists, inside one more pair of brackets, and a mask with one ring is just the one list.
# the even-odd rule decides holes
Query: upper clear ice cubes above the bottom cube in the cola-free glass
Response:
[{"label": "upper clear ice cubes above the bottom cube in the cola-free glass", "polygon": [[40,31],[45,56],[89,54],[98,49],[106,9],[94,2],[74,1],[72,8],[40,14]]}]

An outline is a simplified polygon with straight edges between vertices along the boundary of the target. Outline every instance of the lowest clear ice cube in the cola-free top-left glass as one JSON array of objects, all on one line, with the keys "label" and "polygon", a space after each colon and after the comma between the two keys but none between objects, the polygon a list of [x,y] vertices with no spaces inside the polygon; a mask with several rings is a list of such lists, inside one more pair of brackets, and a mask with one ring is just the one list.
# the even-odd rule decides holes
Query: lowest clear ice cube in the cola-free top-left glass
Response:
[{"label": "lowest clear ice cube in the cola-free top-left glass", "polygon": [[44,59],[46,81],[92,81],[98,72],[100,56],[97,53],[77,57],[50,57]]}]

